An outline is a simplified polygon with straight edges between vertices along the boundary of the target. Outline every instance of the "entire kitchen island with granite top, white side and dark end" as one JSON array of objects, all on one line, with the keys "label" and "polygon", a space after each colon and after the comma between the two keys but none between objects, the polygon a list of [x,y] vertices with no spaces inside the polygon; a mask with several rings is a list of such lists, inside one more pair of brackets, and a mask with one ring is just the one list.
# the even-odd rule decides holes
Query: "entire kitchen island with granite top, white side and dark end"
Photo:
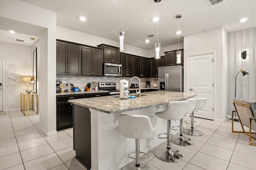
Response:
[{"label": "entire kitchen island with granite top, white side and dark end", "polygon": [[[163,111],[173,101],[186,100],[195,93],[146,92],[140,98],[122,100],[116,96],[68,100],[74,104],[74,150],[76,158],[88,169],[116,170],[133,161],[127,157],[135,150],[134,139],[124,137],[118,130],[120,114],[147,115],[156,132],[140,140],[140,150],[148,152],[165,140],[158,139],[166,133],[166,120],[154,113]],[[172,126],[178,121],[172,121]],[[178,133],[172,131],[172,134]]]}]

